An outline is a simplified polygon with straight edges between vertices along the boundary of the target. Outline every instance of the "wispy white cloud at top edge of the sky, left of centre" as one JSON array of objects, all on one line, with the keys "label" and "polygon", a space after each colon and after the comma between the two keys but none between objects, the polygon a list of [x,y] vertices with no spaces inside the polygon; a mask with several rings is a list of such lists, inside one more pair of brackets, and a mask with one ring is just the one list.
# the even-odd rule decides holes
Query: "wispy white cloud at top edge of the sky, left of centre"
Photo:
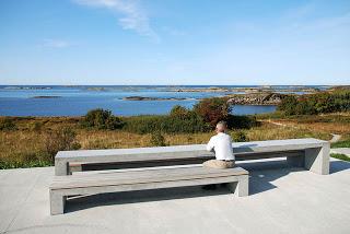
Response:
[{"label": "wispy white cloud at top edge of the sky, left of centre", "polygon": [[147,12],[141,8],[137,0],[73,0],[78,4],[104,8],[122,14],[118,19],[120,26],[125,30],[131,30],[140,35],[151,37],[155,42],[160,42],[159,35],[150,25]]}]

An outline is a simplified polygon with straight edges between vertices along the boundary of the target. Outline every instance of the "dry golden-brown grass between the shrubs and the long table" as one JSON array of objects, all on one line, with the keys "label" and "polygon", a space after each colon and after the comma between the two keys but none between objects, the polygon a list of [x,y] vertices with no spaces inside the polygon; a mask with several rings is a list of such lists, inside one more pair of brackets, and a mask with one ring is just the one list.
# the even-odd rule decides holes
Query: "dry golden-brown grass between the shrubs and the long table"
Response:
[{"label": "dry golden-brown grass between the shrubs and the long table", "polygon": [[[0,117],[1,120],[2,117]],[[314,118],[314,121],[313,121]],[[77,132],[81,149],[121,149],[152,147],[151,134],[126,130],[88,130],[79,125],[79,117],[13,117],[15,130],[0,131],[0,168],[52,165],[46,152],[45,138],[55,129],[69,127]],[[318,138],[329,140],[330,132],[341,132],[342,141],[332,147],[350,147],[350,115],[328,115],[301,118],[276,118],[287,126],[276,126],[262,120],[261,126],[241,130],[247,141],[291,138]],[[346,133],[348,132],[348,134]],[[232,132],[231,132],[232,133]],[[168,145],[207,143],[214,132],[163,134]]]}]

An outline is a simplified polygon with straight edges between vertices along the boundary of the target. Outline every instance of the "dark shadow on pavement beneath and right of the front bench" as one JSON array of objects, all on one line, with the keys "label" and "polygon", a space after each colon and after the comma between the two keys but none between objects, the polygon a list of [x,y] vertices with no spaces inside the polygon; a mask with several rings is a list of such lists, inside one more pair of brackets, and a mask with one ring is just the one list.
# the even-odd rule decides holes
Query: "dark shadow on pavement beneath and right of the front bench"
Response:
[{"label": "dark shadow on pavement beneath and right of the front bench", "polygon": [[[285,160],[272,162],[237,163],[237,165],[249,171],[249,196],[276,189],[277,187],[271,184],[271,182],[290,173],[304,171],[304,168],[290,167]],[[226,187],[217,187],[217,190],[203,190],[201,189],[201,186],[190,186],[78,196],[67,200],[65,212],[74,212],[102,206],[140,203],[232,194]]]}]

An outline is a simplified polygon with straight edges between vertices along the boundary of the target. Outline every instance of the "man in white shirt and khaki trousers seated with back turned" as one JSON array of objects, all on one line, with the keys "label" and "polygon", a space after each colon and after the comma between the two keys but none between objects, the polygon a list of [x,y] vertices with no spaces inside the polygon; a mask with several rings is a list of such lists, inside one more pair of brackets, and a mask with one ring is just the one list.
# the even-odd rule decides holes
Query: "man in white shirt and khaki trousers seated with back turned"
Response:
[{"label": "man in white shirt and khaki trousers seated with back turned", "polygon": [[215,153],[215,160],[209,160],[203,166],[212,168],[231,168],[234,167],[235,161],[232,150],[232,138],[226,133],[228,125],[225,121],[219,121],[217,125],[217,133],[211,137],[207,144],[208,151]]}]

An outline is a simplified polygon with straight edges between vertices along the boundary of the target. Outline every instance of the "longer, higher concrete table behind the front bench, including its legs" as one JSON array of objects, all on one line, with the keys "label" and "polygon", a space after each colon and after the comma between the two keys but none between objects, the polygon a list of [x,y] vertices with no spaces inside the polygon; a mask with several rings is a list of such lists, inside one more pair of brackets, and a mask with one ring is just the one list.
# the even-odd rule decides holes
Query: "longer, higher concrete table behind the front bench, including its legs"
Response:
[{"label": "longer, higher concrete table behind the front bench, including its legs", "polygon": [[[314,173],[329,174],[329,142],[306,138],[234,142],[236,161],[287,157],[288,163]],[[196,164],[213,159],[206,144],[176,147],[60,151],[55,157],[55,174],[70,175],[73,165],[114,165],[114,168]],[[77,169],[77,168],[75,168]],[[80,168],[81,169],[81,168]],[[79,169],[78,169],[79,171]]]}]

